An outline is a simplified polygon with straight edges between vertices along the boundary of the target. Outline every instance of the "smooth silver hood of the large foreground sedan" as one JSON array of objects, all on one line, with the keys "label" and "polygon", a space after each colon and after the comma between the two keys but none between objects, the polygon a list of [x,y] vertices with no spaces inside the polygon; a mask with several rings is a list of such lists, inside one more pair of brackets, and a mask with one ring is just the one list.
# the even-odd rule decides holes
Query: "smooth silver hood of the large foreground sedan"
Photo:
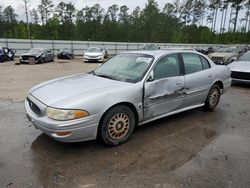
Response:
[{"label": "smooth silver hood of the large foreground sedan", "polygon": [[63,108],[71,105],[70,103],[88,100],[95,95],[107,94],[131,84],[81,74],[42,83],[32,88],[30,94],[47,106]]}]

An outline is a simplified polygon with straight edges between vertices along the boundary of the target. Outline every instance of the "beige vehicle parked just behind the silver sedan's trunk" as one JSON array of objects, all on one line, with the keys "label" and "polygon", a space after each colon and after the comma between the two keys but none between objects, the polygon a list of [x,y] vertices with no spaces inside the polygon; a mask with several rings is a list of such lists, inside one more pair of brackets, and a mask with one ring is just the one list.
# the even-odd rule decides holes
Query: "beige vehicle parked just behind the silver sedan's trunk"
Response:
[{"label": "beige vehicle parked just behind the silver sedan's trunk", "polygon": [[248,46],[234,46],[234,47],[222,47],[216,50],[216,52],[209,54],[215,64],[228,65],[237,60],[242,54],[248,51]]}]

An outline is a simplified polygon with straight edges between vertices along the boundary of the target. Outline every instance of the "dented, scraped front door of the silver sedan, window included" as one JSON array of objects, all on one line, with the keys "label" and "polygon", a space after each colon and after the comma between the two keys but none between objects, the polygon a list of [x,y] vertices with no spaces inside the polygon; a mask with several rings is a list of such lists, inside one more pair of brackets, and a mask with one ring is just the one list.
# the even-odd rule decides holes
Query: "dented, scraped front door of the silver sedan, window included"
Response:
[{"label": "dented, scraped front door of the silver sedan, window included", "polygon": [[183,107],[184,76],[178,54],[161,58],[153,69],[153,79],[145,83],[144,120]]}]

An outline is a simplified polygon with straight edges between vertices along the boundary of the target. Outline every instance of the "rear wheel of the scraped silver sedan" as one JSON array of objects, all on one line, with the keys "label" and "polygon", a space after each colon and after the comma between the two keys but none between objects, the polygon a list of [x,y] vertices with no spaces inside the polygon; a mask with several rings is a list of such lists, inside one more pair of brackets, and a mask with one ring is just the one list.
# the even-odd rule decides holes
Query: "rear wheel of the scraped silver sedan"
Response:
[{"label": "rear wheel of the scraped silver sedan", "polygon": [[217,84],[214,84],[207,95],[207,99],[205,102],[205,109],[209,111],[213,111],[217,104],[220,101],[220,86]]}]

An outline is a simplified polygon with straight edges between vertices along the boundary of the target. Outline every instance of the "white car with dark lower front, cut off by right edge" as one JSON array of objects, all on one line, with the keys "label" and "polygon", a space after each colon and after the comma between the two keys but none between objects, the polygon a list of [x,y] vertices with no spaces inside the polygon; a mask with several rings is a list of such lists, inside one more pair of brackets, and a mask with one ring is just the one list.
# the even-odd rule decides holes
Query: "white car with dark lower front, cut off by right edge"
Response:
[{"label": "white car with dark lower front, cut off by right edge", "polygon": [[250,51],[229,65],[233,82],[250,83]]}]

